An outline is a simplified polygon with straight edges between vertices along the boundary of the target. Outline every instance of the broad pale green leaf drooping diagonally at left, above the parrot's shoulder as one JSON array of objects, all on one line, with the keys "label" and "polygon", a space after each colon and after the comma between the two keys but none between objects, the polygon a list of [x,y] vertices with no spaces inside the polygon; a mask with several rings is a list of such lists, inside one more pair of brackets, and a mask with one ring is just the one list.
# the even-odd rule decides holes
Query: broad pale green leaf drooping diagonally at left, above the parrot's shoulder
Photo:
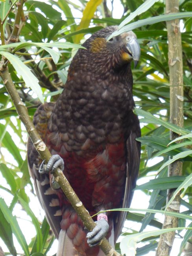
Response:
[{"label": "broad pale green leaf drooping diagonally at left, above the parrot's shoulder", "polygon": [[10,61],[10,63],[13,65],[17,73],[20,74],[20,76],[22,76],[24,82],[26,83],[26,86],[30,87],[37,94],[39,100],[41,100],[41,102],[44,103],[41,87],[38,83],[39,80],[33,75],[31,70],[13,54],[4,51],[1,51],[0,54]]}]

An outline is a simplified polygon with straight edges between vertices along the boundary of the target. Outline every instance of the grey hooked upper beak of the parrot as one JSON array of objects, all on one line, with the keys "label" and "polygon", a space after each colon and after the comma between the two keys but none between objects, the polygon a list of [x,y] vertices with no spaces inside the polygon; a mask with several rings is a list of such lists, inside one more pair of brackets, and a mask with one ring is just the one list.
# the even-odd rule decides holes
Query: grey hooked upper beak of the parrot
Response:
[{"label": "grey hooked upper beak of the parrot", "polygon": [[130,32],[126,38],[127,39],[126,48],[129,51],[129,53],[132,55],[134,66],[136,67],[140,58],[140,46],[138,44],[135,33],[133,33],[132,31]]}]

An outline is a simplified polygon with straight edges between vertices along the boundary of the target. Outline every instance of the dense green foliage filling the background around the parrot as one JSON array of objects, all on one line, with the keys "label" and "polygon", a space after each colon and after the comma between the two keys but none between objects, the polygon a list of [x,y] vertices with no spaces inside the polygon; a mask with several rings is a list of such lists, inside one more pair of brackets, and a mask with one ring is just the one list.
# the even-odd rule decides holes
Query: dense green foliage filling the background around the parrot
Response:
[{"label": "dense green foliage filling the background around the parrot", "polygon": [[[130,24],[126,25],[126,23],[132,22],[132,29],[135,28],[134,32],[141,47],[140,62],[137,68],[133,69],[135,111],[140,116],[142,125],[142,137],[138,138],[142,143],[138,182],[144,183],[146,180],[144,178],[147,176],[151,179],[136,189],[150,195],[149,208],[154,211],[146,215],[135,211],[135,213],[128,214],[128,219],[141,223],[140,231],[148,225],[161,229],[161,223],[155,218],[155,213],[166,206],[165,189],[178,187],[181,190],[184,188],[186,197],[185,200],[181,200],[181,205],[187,208],[185,213],[188,215],[192,213],[191,175],[187,177],[192,169],[192,14],[190,12],[192,4],[188,0],[180,1],[179,10],[180,17],[183,17],[181,24],[185,28],[182,32],[184,98],[180,99],[184,103],[185,125],[181,129],[169,123],[168,44],[164,21],[167,17],[164,17],[163,2],[147,0],[145,2],[148,4],[147,8],[143,0],[121,0],[119,5],[123,6],[124,11],[122,17],[118,19],[113,16],[115,15],[114,2],[110,0],[90,0],[89,2],[84,0],[78,2],[28,0],[24,3],[20,14],[22,19],[19,41],[15,44],[4,45],[4,39],[6,41],[10,35],[14,35],[18,1],[1,1],[0,18],[3,22],[0,26],[2,43],[0,54],[10,61],[8,67],[11,78],[32,117],[35,109],[43,100],[54,101],[61,93],[72,56],[76,48],[81,47],[74,43],[79,43],[81,38],[82,41],[85,40],[87,35],[104,26],[119,25],[124,21],[121,23],[123,31],[130,27]],[[132,13],[131,16],[129,16],[130,13]],[[170,129],[183,135],[182,143],[177,143],[178,141],[171,143]],[[46,255],[52,246],[54,237],[49,231],[46,219],[43,219],[37,212],[33,213],[33,209],[29,207],[34,192],[26,164],[26,137],[15,107],[3,87],[3,81],[0,80],[0,173],[2,180],[0,189],[1,194],[4,195],[4,199],[0,198],[0,237],[9,250],[8,254],[22,254],[21,249],[18,249],[13,240],[13,233],[26,255],[36,253]],[[151,159],[153,163],[149,166]],[[173,178],[167,175],[167,165],[175,159],[183,161],[182,177]],[[25,239],[26,234],[23,234],[19,227],[18,207],[26,213],[24,218],[30,220],[36,230],[36,235],[31,238],[31,241]],[[180,218],[183,219],[183,214]],[[188,224],[181,221],[180,227],[183,226],[188,226]],[[129,234],[132,236],[137,232],[138,230],[129,229]],[[137,255],[144,255],[155,250],[160,232],[156,233],[154,237],[152,237],[153,232],[143,237],[144,244],[142,243],[142,249],[137,249]],[[123,236],[127,234],[128,232]],[[177,234],[181,238],[184,236],[181,244],[182,250],[192,236],[192,230],[189,229],[182,235],[179,232]],[[117,244],[116,248],[118,247]]]}]

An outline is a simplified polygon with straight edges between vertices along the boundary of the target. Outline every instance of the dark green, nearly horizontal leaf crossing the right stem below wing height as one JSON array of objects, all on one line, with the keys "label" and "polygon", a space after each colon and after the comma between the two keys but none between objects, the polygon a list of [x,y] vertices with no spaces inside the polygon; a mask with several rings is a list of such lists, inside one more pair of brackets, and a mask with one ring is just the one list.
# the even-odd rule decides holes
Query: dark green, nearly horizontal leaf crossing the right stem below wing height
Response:
[{"label": "dark green, nearly horizontal leaf crossing the right stem below wing height", "polygon": [[179,187],[181,183],[185,180],[186,176],[172,176],[166,178],[155,178],[146,182],[145,184],[137,186],[134,190],[137,189],[172,189]]}]

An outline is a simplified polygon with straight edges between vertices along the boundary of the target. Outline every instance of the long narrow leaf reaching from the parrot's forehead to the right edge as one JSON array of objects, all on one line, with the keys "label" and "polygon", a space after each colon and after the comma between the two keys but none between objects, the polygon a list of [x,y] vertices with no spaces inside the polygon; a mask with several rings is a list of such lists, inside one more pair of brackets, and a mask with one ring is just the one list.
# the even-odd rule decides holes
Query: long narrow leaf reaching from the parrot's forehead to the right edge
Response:
[{"label": "long narrow leaf reaching from the parrot's forehead to the right edge", "polygon": [[188,11],[185,13],[169,13],[169,14],[164,14],[164,15],[159,15],[152,18],[144,19],[144,20],[138,20],[136,22],[133,22],[129,25],[126,25],[120,28],[120,30],[113,32],[107,38],[107,41],[109,41],[109,39],[111,39],[112,37],[116,37],[117,35],[120,35],[121,33],[128,32],[135,28],[140,28],[141,26],[151,25],[151,24],[155,24],[155,23],[167,21],[167,20],[182,19],[185,17],[192,17],[192,12]]}]

